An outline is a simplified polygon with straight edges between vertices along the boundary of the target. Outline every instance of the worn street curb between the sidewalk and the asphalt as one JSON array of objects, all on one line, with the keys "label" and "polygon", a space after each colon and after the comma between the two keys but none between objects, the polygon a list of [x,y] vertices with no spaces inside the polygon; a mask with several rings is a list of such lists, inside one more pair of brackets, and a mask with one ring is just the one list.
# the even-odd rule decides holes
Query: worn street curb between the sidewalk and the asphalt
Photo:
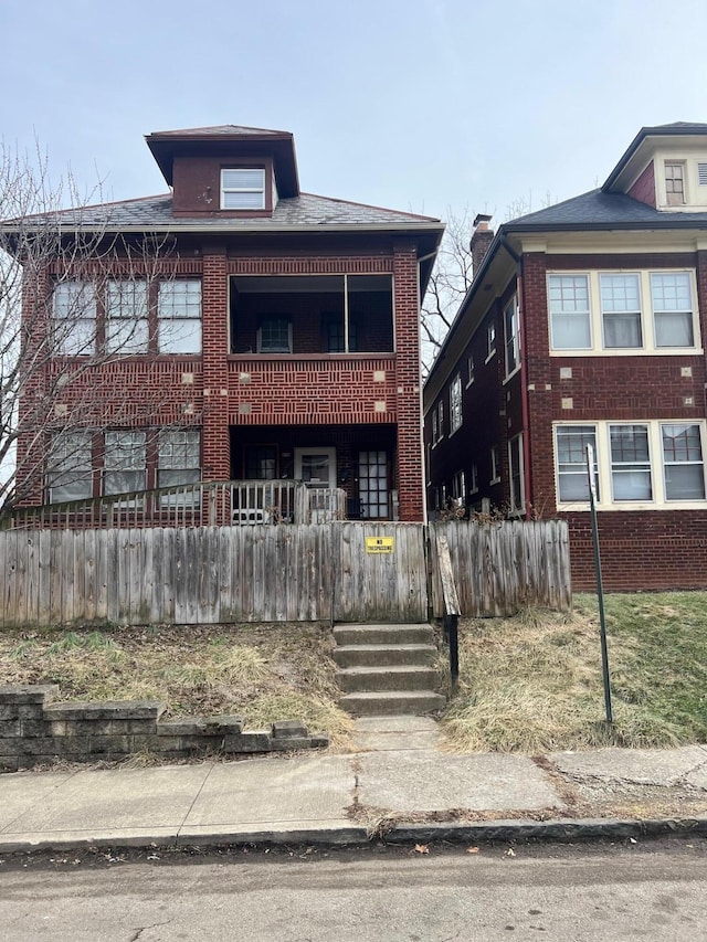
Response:
[{"label": "worn street curb between the sidewalk and the asphalt", "polygon": [[0,838],[0,854],[29,854],[42,850],[80,850],[93,847],[188,848],[222,847],[224,845],[278,846],[317,845],[321,847],[366,847],[376,840],[384,844],[493,844],[527,842],[581,842],[595,839],[624,839],[707,835],[707,815],[690,818],[579,818],[527,821],[506,819],[463,824],[440,822],[435,824],[399,823],[389,830],[371,834],[360,825],[331,828],[295,828],[262,830],[214,830],[212,834],[75,834],[52,838],[40,835],[36,839],[13,840]]}]

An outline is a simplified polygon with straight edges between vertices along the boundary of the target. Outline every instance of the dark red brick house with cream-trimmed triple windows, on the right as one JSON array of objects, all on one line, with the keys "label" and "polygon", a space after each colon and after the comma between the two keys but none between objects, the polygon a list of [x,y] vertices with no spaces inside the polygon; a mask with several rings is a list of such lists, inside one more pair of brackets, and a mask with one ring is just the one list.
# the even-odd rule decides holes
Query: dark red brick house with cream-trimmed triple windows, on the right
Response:
[{"label": "dark red brick house with cream-trimmed triple windows, on the right", "polygon": [[591,589],[590,443],[605,585],[707,586],[707,125],[643,128],[600,189],[488,219],[424,388],[431,514],[563,517]]}]

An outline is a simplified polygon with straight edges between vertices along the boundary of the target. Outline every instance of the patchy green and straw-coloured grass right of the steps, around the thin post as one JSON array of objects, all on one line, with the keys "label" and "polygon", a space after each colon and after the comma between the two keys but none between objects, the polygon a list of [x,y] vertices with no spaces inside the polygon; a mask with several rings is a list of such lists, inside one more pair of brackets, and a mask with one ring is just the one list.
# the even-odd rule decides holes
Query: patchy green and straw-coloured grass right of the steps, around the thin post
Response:
[{"label": "patchy green and straw-coloured grass right of the steps, around the thin post", "polygon": [[443,723],[461,750],[544,752],[707,741],[707,593],[606,597],[614,726],[604,722],[595,597],[560,614],[460,622],[460,692]]}]

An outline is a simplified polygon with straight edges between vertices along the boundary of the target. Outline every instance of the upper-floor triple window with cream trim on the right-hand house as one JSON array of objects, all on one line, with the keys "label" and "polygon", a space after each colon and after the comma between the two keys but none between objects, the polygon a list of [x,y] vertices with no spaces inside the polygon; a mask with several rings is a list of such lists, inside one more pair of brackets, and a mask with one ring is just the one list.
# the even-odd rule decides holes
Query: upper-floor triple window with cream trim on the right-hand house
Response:
[{"label": "upper-floor triple window with cream trim on the right-hand house", "polygon": [[694,271],[548,275],[551,352],[635,356],[699,348]]}]

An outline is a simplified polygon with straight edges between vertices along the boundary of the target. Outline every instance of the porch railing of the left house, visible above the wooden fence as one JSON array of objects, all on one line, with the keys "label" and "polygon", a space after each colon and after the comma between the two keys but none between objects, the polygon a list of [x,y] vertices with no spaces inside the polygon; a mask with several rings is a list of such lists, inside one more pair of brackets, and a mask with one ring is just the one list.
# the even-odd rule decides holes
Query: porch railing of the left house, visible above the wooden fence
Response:
[{"label": "porch railing of the left house, visible above the wooden fence", "polygon": [[297,480],[219,480],[19,507],[0,529],[325,523],[346,519],[346,493]]}]

